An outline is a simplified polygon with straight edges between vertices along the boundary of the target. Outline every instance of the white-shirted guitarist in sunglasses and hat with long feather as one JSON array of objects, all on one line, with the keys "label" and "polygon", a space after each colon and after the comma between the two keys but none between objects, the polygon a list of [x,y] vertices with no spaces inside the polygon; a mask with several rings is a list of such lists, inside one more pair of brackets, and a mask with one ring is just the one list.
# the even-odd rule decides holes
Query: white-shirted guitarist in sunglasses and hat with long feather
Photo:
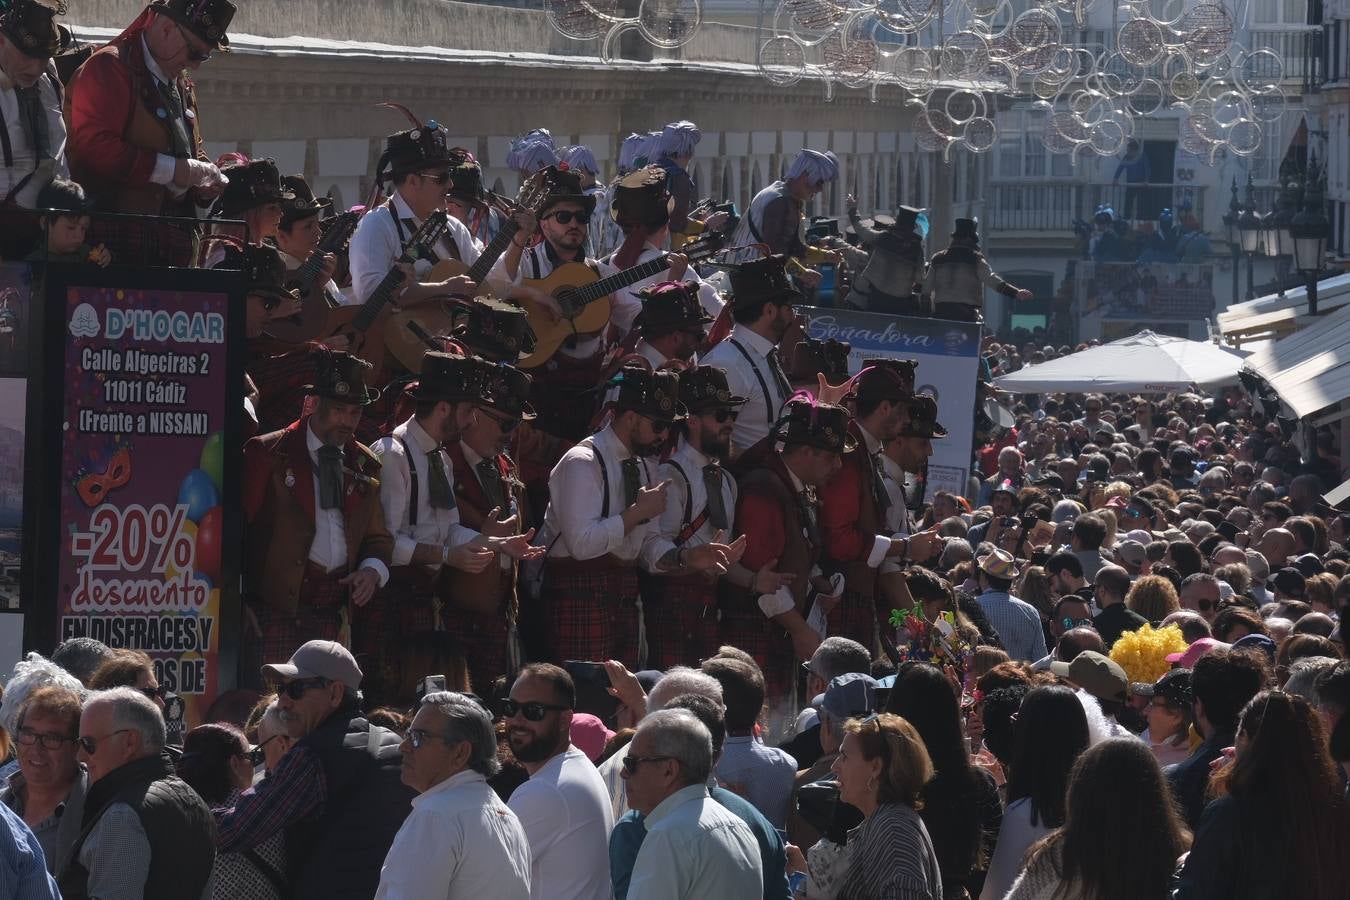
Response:
[{"label": "white-shirted guitarist in sunglasses and hat with long feather", "polygon": [[385,138],[375,178],[393,188],[383,204],[360,219],[351,236],[348,263],[351,290],[356,302],[366,302],[375,287],[396,266],[404,273],[398,302],[404,306],[431,302],[447,294],[473,296],[475,285],[463,275],[440,282],[427,281],[432,266],[441,259],[459,259],[473,264],[483,251],[468,227],[454,216],[446,233],[416,263],[400,263],[404,244],[433,212],[446,209],[446,192],[451,184],[455,151],[448,146],[446,127],[428,120],[417,128],[397,131]]}]

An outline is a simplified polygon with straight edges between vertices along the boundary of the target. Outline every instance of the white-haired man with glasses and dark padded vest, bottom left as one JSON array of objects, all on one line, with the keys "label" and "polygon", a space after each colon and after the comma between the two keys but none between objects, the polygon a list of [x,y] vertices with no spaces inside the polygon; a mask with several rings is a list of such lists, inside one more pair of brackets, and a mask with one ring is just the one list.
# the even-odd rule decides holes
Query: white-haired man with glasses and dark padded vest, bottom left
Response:
[{"label": "white-haired man with glasses and dark padded vest, bottom left", "polygon": [[93,694],[80,715],[89,791],[57,878],[65,897],[209,897],[211,810],[174,775],[165,721],[144,694]]}]

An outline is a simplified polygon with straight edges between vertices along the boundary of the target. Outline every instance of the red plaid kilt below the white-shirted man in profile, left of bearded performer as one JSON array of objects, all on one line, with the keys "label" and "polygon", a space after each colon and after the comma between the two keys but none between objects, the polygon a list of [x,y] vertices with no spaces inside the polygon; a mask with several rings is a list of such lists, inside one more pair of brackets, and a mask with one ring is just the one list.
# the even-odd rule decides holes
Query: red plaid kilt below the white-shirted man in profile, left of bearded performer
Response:
[{"label": "red plaid kilt below the white-shirted man in profile, left of bearded performer", "polygon": [[549,560],[544,615],[552,661],[618,660],[637,671],[637,567],[605,560]]}]

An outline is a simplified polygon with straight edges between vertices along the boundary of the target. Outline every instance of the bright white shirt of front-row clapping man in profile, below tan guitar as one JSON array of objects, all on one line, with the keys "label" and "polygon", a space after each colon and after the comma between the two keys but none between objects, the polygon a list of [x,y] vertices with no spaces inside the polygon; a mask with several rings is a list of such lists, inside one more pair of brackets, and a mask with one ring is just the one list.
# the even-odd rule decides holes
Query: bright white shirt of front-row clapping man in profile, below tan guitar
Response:
[{"label": "bright white shirt of front-row clapping man in profile, below tan guitar", "polygon": [[[606,553],[621,560],[639,557],[644,541],[656,529],[652,522],[644,522],[628,534],[624,533],[624,510],[628,509],[624,499],[624,460],[629,457],[641,461],[641,484],[651,486],[655,468],[652,461],[630,453],[613,426],[583,439],[558,461],[548,475],[549,502],[540,534],[541,544],[552,545],[548,552],[551,557],[593,560]],[[603,476],[601,466],[605,467]]]}]

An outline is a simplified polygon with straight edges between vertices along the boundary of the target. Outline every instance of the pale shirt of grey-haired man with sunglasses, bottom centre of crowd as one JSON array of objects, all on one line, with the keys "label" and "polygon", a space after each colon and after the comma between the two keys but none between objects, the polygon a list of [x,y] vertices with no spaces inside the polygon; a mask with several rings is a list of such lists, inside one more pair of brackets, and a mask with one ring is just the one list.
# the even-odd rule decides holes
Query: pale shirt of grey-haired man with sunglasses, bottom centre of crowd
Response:
[{"label": "pale shirt of grey-haired man with sunglasses, bottom centre of crowd", "polygon": [[764,893],[755,835],[694,784],[670,795],[644,820],[647,837],[633,862],[634,900],[752,900]]}]

